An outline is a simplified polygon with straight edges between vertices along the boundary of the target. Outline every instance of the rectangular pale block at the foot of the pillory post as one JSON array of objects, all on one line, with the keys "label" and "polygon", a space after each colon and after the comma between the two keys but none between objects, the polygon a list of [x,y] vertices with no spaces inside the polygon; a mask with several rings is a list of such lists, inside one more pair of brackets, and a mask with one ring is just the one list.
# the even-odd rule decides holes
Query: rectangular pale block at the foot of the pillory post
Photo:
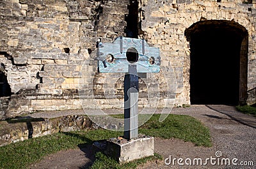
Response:
[{"label": "rectangular pale block at the foot of the pillory post", "polygon": [[139,135],[137,139],[111,138],[106,143],[104,153],[120,163],[154,156],[154,137]]}]

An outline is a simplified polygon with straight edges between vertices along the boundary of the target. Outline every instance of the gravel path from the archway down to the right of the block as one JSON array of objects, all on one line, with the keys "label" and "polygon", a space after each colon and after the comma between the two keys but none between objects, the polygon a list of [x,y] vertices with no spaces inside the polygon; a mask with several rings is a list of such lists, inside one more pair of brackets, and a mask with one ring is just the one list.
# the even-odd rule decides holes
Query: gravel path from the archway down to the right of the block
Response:
[{"label": "gravel path from the archway down to the right of the block", "polygon": [[[189,108],[173,108],[172,114],[184,114],[195,117],[211,131],[213,146],[195,147],[192,143],[182,143],[180,140],[156,139],[155,152],[170,158],[216,158],[216,152],[221,151],[222,158],[240,161],[253,161],[253,166],[211,165],[207,166],[175,166],[164,165],[163,161],[150,163],[140,168],[256,168],[256,118],[236,111],[236,108],[225,105],[198,105]],[[166,151],[168,149],[168,151]],[[237,163],[238,163],[237,162]],[[204,163],[204,162],[203,162]],[[232,163],[232,161],[230,161]],[[221,164],[221,162],[220,162]]]}]

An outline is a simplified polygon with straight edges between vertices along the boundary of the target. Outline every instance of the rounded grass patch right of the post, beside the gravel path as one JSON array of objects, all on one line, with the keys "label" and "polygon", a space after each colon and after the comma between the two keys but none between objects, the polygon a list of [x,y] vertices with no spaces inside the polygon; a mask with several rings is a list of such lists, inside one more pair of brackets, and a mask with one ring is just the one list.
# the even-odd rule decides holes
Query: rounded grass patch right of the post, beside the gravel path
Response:
[{"label": "rounded grass patch right of the post, beside the gravel path", "polygon": [[170,114],[159,122],[160,114],[153,115],[139,129],[140,133],[161,138],[179,138],[185,142],[193,142],[197,146],[211,147],[211,135],[200,121],[188,115]]}]

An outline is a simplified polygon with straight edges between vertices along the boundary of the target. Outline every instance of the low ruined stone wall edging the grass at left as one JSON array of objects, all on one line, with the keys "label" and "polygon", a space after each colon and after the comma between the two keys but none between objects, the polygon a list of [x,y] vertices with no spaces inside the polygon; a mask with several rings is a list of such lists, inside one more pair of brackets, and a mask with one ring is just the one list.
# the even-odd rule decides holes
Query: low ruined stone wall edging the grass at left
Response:
[{"label": "low ruined stone wall edging the grass at left", "polygon": [[0,146],[58,132],[98,128],[84,115],[68,115],[54,119],[19,117],[0,122]]}]

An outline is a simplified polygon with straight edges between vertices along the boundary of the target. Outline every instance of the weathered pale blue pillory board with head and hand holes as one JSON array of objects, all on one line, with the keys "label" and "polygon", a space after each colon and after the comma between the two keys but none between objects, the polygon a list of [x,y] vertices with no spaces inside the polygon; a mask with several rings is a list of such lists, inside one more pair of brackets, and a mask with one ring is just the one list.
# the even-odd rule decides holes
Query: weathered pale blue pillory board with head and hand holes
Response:
[{"label": "weathered pale blue pillory board with head and hand holes", "polygon": [[[127,61],[127,53],[136,52],[138,61]],[[145,40],[118,37],[113,43],[100,43],[97,48],[100,73],[128,73],[128,65],[136,64],[138,73],[160,71],[159,48],[150,47]],[[106,62],[104,66],[103,62]]]}]

